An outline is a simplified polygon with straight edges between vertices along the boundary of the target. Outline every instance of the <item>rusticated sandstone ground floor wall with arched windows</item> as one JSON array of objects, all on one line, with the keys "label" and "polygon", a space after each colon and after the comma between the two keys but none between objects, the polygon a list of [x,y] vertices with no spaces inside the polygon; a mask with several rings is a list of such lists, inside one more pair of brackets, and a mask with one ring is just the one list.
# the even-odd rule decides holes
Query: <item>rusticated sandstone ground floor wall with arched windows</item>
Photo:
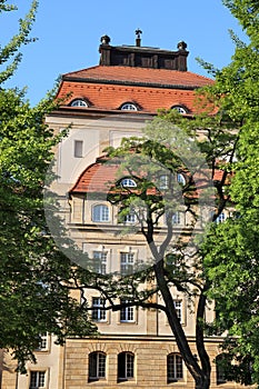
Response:
[{"label": "rusticated sandstone ground floor wall with arched windows", "polygon": [[[193,339],[189,340],[193,355],[197,355]],[[219,353],[219,339],[209,339],[207,350],[211,361]],[[104,356],[103,377],[92,377],[90,369],[91,356]],[[119,356],[130,355],[132,359],[132,375],[119,379]],[[38,359],[38,363],[28,366],[26,376],[17,375],[13,370],[2,371],[0,389],[30,389],[31,371],[47,371],[44,386],[33,387],[37,389],[86,389],[86,388],[127,388],[127,389],[195,389],[191,375],[182,368],[182,377],[177,380],[168,380],[168,356],[179,355],[173,338],[169,337],[114,337],[102,336],[93,339],[68,339],[66,346],[56,352],[56,368],[53,368],[53,356],[49,355]],[[96,358],[96,357],[94,357]],[[52,361],[52,362],[51,362]],[[126,363],[127,361],[123,360]],[[99,361],[100,362],[100,361]],[[128,361],[129,362],[129,361]],[[52,365],[51,365],[52,363]],[[97,367],[98,359],[93,359]],[[236,382],[217,382],[216,365],[211,362],[210,389],[239,389],[242,386]],[[57,366],[59,369],[57,369]],[[101,369],[101,366],[99,366]],[[250,387],[246,387],[250,388]]]}]

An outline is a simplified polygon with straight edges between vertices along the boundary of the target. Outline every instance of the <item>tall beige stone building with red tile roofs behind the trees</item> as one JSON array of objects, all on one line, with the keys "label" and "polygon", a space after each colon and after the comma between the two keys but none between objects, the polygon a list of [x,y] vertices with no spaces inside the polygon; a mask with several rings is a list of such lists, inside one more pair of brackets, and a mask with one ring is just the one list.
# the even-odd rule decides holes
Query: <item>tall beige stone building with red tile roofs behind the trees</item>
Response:
[{"label": "tall beige stone building with red tile roofs behind the trees", "polygon": [[[97,260],[102,273],[127,272],[137,259],[150,256],[140,235],[116,233],[121,225],[106,197],[98,201],[86,197],[97,190],[107,194],[103,179],[107,182],[116,177],[116,166],[101,163],[103,149],[119,146],[122,138],[140,137],[159,108],[191,117],[197,110],[195,91],[212,82],[187,70],[185,42],[178,43],[176,51],[161,50],[141,47],[140,36],[138,30],[136,46],[120,47],[102,37],[100,64],[64,74],[58,91],[58,98],[64,100],[47,118],[57,132],[71,124],[68,139],[57,150],[54,188],[70,238]],[[124,187],[135,187],[129,177],[121,179]],[[179,173],[176,180],[181,183],[185,176]],[[133,217],[126,222],[135,222]],[[188,220],[178,213],[175,223],[177,231]],[[185,297],[178,291],[175,296],[178,317],[196,355],[193,315]],[[16,376],[7,368],[2,389],[195,388],[163,312],[135,307],[104,311],[98,291],[89,291],[88,298],[101,336],[68,339],[64,347],[58,347],[50,335],[44,335],[36,352],[38,363],[28,365],[27,376]],[[207,315],[212,319],[213,311]],[[211,360],[219,353],[219,342],[217,337],[207,339]],[[219,385],[240,387],[226,382],[212,363],[211,388]]]}]

